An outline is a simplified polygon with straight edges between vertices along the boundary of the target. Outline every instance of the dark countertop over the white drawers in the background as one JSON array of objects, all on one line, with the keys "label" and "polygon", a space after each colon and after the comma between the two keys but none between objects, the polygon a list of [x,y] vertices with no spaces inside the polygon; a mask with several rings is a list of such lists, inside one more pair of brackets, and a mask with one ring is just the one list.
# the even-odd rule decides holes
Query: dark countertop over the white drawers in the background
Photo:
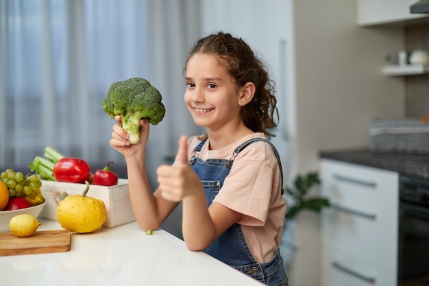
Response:
[{"label": "dark countertop over the white drawers in the background", "polygon": [[369,149],[322,151],[321,158],[397,171],[402,175],[429,178],[429,154],[384,154]]}]

